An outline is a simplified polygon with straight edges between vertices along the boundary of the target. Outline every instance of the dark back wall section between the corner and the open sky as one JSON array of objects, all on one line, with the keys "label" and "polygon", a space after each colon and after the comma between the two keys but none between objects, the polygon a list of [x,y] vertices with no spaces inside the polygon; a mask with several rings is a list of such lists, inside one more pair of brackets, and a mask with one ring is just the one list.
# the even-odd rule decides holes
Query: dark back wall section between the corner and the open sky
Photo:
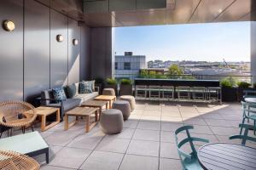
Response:
[{"label": "dark back wall section between the corner and the open sky", "polygon": [[91,78],[113,77],[112,28],[91,28],[90,43]]}]

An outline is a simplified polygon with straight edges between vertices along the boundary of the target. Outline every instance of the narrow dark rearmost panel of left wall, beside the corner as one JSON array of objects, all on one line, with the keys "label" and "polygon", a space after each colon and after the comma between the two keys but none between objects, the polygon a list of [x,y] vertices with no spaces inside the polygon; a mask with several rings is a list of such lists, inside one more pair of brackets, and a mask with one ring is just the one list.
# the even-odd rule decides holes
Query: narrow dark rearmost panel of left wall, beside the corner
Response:
[{"label": "narrow dark rearmost panel of left wall, beside the corner", "polygon": [[80,80],[90,78],[90,28],[81,27]]}]

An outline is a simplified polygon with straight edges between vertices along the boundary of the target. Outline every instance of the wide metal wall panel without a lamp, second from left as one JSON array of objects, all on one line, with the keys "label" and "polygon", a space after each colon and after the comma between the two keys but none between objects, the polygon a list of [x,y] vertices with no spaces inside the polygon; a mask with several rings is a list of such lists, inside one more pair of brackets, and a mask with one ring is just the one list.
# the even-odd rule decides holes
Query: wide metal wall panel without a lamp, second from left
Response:
[{"label": "wide metal wall panel without a lamp, second from left", "polygon": [[32,99],[49,88],[49,8],[25,1],[24,97]]}]

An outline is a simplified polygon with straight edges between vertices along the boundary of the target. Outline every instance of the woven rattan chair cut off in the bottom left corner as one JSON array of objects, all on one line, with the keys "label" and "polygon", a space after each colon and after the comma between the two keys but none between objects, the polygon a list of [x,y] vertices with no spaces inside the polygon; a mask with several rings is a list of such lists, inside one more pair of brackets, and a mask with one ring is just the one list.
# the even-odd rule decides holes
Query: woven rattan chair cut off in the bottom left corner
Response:
[{"label": "woven rattan chair cut off in the bottom left corner", "polygon": [[38,170],[37,161],[15,151],[0,150],[0,169],[2,170]]}]

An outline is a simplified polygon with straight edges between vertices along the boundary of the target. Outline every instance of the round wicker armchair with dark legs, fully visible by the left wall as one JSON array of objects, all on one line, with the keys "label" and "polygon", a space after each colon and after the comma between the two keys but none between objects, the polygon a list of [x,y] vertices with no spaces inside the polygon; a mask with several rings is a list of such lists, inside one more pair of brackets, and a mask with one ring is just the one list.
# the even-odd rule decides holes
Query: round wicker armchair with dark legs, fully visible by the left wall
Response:
[{"label": "round wicker armchair with dark legs, fully visible by the left wall", "polygon": [[[26,111],[32,114],[27,114]],[[12,135],[13,127],[21,127],[22,133],[25,133],[25,128],[32,127],[32,122],[36,118],[34,107],[26,102],[6,101],[0,103],[0,126],[10,127],[10,135]],[[0,138],[2,133],[3,131],[1,131]]]}]

